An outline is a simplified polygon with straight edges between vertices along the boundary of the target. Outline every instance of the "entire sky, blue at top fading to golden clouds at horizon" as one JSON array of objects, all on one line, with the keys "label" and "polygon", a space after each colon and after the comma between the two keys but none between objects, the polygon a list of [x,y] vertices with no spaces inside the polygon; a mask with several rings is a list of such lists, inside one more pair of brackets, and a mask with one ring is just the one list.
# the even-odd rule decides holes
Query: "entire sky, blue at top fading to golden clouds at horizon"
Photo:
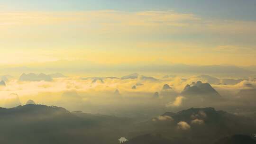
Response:
[{"label": "entire sky, blue at top fading to golden clouds at horizon", "polygon": [[256,65],[255,0],[0,0],[0,65]]}]

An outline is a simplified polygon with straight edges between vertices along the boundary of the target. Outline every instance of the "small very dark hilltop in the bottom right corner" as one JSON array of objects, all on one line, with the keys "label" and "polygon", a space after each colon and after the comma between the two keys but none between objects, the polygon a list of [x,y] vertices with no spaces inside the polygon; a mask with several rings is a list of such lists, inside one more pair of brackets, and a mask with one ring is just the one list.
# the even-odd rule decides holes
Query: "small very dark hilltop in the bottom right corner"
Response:
[{"label": "small very dark hilltop in the bottom right corner", "polygon": [[232,135],[221,138],[214,144],[256,144],[256,140],[249,135]]}]

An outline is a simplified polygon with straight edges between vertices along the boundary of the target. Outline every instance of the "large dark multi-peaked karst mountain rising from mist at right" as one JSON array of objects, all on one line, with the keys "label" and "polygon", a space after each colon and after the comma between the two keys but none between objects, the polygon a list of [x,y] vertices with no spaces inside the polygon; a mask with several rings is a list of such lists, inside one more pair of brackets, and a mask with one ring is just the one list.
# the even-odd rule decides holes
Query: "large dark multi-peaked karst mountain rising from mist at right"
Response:
[{"label": "large dark multi-peaked karst mountain rising from mist at right", "polygon": [[211,87],[209,83],[202,83],[197,81],[195,84],[186,85],[184,90],[181,92],[183,96],[215,96],[220,97],[220,94]]}]

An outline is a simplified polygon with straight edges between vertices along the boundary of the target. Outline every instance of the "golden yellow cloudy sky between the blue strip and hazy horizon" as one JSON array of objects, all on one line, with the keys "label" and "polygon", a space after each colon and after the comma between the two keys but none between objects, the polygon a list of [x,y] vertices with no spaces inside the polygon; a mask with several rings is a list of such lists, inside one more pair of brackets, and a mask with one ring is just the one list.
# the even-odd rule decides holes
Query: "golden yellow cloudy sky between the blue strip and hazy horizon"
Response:
[{"label": "golden yellow cloudy sky between the blue strip and hazy horizon", "polygon": [[256,64],[256,21],[174,10],[0,11],[0,64]]}]

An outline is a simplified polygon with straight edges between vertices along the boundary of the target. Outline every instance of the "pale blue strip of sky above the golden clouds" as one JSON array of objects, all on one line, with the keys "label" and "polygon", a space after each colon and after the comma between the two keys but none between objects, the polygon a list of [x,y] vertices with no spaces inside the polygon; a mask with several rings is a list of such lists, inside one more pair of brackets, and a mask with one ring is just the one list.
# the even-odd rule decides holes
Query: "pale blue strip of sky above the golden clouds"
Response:
[{"label": "pale blue strip of sky above the golden clouds", "polygon": [[0,0],[17,10],[175,10],[209,18],[256,20],[256,0]]}]

